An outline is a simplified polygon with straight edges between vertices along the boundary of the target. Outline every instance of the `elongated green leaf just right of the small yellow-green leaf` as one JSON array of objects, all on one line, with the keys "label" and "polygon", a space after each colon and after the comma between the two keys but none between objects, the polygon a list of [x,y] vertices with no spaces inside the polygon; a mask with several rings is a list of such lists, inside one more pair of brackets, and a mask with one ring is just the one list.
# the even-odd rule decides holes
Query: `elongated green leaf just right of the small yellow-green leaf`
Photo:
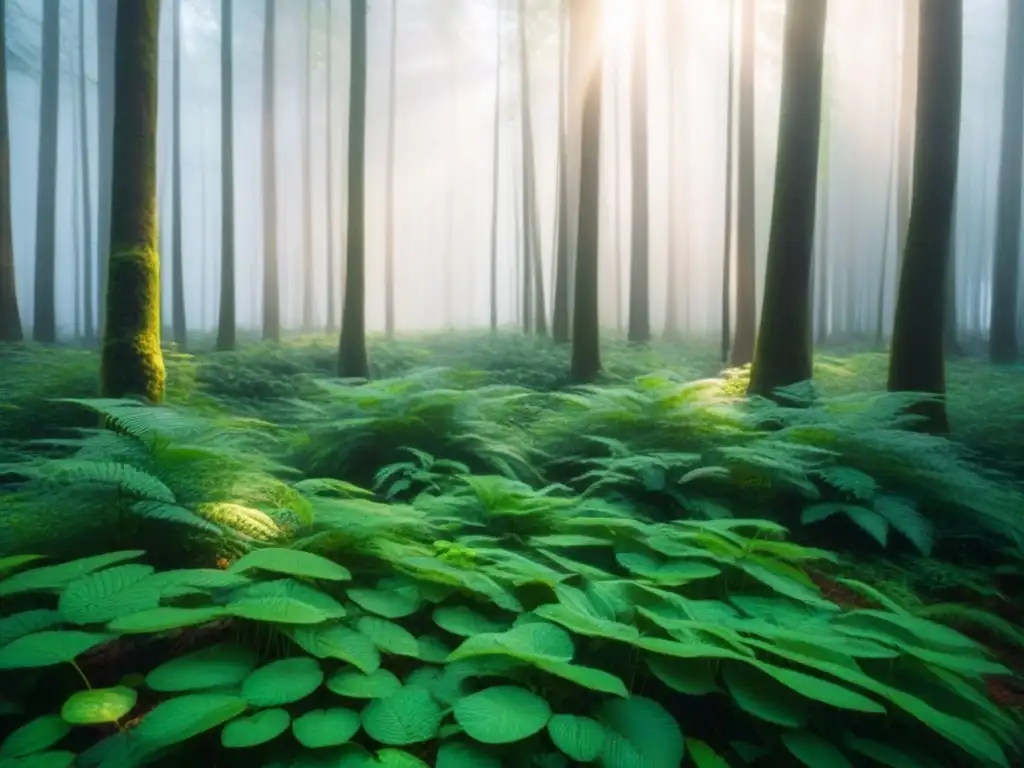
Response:
[{"label": "elongated green leaf just right of the small yellow-green leaf", "polygon": [[188,693],[153,708],[132,731],[146,754],[187,741],[246,711],[246,700],[226,693]]}]

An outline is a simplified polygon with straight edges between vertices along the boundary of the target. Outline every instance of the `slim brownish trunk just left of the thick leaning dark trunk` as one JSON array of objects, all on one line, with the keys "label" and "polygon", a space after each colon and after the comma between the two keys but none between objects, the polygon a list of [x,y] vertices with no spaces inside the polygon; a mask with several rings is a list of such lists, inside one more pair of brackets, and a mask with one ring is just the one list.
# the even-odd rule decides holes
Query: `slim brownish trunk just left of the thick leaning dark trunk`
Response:
[{"label": "slim brownish trunk just left of the thick leaning dark trunk", "polygon": [[[794,4],[791,4],[794,5]],[[736,157],[736,335],[730,361],[745,366],[754,359],[758,328],[756,143],[754,134],[757,0],[743,0],[739,40],[739,106]]]}]

